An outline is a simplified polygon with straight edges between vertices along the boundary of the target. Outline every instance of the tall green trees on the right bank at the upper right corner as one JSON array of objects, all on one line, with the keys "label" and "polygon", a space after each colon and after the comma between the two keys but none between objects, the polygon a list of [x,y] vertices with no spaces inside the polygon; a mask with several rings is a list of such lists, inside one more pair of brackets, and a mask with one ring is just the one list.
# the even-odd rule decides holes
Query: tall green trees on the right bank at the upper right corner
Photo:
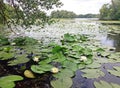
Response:
[{"label": "tall green trees on the right bank at the upper right corner", "polygon": [[111,0],[100,9],[101,20],[120,20],[120,0]]}]

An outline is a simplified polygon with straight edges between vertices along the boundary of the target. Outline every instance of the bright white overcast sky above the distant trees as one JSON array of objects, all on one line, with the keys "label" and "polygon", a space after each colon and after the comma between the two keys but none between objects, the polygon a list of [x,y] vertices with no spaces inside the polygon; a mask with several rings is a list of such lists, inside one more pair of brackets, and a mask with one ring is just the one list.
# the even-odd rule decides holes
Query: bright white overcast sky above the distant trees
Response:
[{"label": "bright white overcast sky above the distant trees", "polygon": [[[78,14],[98,14],[103,4],[111,0],[60,0],[64,5],[58,10],[73,11]],[[57,9],[54,9],[57,10]],[[53,11],[53,10],[51,10]]]}]

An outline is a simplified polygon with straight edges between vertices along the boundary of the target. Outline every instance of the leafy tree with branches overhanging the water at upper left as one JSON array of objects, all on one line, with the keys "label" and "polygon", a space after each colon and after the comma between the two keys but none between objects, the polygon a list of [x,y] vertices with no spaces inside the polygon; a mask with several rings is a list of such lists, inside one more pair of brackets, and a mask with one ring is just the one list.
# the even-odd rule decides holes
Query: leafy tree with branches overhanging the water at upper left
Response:
[{"label": "leafy tree with branches overhanging the water at upper left", "polygon": [[[6,1],[6,2],[5,2]],[[49,22],[49,17],[45,11],[53,7],[60,7],[60,0],[0,0],[0,19],[2,23],[20,24],[29,26],[40,24],[44,26]],[[12,9],[6,7],[8,5]],[[8,16],[10,10],[14,13]],[[9,14],[10,15],[10,14]]]}]

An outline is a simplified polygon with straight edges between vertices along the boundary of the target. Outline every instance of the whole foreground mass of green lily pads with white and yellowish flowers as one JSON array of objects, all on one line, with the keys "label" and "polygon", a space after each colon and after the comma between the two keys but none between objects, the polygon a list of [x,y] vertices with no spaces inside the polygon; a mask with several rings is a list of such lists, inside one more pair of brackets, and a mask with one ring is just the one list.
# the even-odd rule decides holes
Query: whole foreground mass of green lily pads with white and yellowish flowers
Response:
[{"label": "whole foreground mass of green lily pads with white and yellowish flowers", "polygon": [[[73,84],[72,78],[77,70],[84,73],[83,77],[97,79],[105,75],[100,69],[103,63],[120,62],[120,53],[114,52],[115,48],[101,46],[99,42],[89,37],[89,35],[67,33],[64,34],[59,45],[55,43],[43,45],[32,38],[16,38],[12,43],[8,43],[11,45],[3,46],[1,44],[0,60],[6,60],[8,66],[20,65],[32,60],[35,63],[31,64],[31,69],[24,69],[26,77],[35,78],[35,73],[50,72],[54,77],[54,80],[50,82],[53,88],[70,88]],[[120,76],[120,67],[114,67],[114,69],[112,71],[108,69],[108,72]],[[9,82],[11,86],[6,88],[12,88],[15,86],[14,81],[23,79],[16,75],[13,76],[1,77],[0,87],[4,88],[3,84]],[[13,80],[11,80],[12,78]],[[101,88],[109,83],[100,81],[100,83],[94,82],[94,85],[96,88]],[[114,83],[110,85],[110,88],[120,87]]]}]

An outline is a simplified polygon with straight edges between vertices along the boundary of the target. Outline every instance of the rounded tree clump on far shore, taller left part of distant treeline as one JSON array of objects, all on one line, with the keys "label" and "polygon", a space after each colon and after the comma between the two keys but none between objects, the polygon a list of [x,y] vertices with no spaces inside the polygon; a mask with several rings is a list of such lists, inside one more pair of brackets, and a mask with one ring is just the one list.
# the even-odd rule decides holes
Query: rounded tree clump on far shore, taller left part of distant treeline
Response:
[{"label": "rounded tree clump on far shore, taller left part of distant treeline", "polygon": [[51,17],[53,18],[75,18],[76,14],[74,12],[71,11],[66,11],[66,10],[57,10],[57,11],[53,11],[51,13]]}]

